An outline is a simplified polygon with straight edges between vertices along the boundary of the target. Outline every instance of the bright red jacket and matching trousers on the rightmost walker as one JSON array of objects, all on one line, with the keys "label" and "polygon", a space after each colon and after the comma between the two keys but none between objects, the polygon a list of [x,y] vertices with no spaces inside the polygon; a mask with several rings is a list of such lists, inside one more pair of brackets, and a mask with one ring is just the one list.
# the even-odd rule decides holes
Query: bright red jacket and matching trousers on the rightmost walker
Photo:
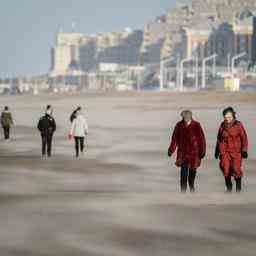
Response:
[{"label": "bright red jacket and matching trousers on the rightmost walker", "polygon": [[219,128],[216,150],[220,154],[220,168],[225,177],[240,178],[242,173],[241,152],[248,150],[248,139],[244,126],[235,120],[228,127],[223,122]]}]

